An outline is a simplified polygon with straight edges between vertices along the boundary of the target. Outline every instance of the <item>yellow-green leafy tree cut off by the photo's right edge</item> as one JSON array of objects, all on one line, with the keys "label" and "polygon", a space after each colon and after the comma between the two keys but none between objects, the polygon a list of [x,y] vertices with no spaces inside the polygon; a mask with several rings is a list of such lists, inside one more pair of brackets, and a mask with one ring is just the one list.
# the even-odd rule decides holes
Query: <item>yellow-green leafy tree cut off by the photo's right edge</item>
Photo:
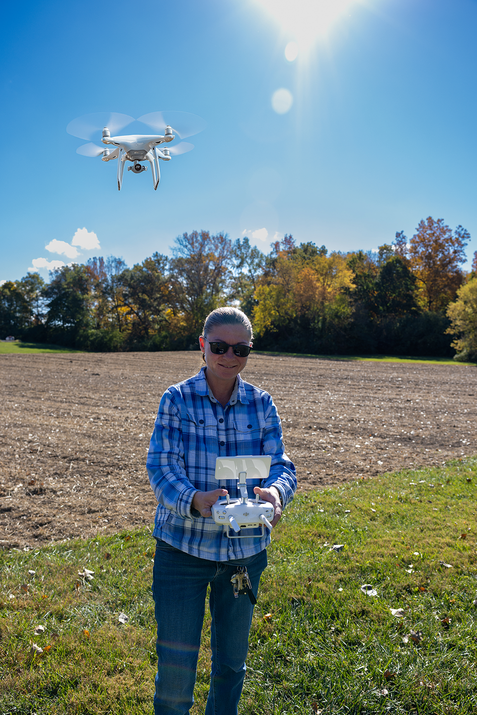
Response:
[{"label": "yellow-green leafy tree cut off by the photo's right edge", "polygon": [[453,341],[456,360],[477,360],[477,277],[458,288],[457,299],[447,309],[451,326],[446,332],[460,337]]}]

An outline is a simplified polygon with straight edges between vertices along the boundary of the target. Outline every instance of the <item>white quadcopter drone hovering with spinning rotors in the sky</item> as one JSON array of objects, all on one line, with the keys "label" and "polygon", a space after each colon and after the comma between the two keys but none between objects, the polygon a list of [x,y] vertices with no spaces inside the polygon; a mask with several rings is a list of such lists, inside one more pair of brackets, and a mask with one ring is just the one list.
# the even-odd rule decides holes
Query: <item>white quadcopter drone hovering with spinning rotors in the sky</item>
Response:
[{"label": "white quadcopter drone hovering with spinning rotors in the sky", "polygon": [[[132,122],[142,122],[147,127],[156,129],[162,134],[128,134],[116,136],[119,132]],[[192,137],[193,134],[202,132],[205,122],[197,114],[189,112],[151,112],[143,114],[139,119],[129,117],[128,114],[118,114],[117,112],[98,112],[96,114],[84,114],[69,122],[67,126],[68,134],[79,139],[100,139],[105,145],[99,147],[98,144],[89,142],[78,147],[77,154],[84,157],[100,157],[103,162],[110,162],[117,159],[117,188],[121,191],[122,177],[126,162],[132,162],[132,166],[127,167],[128,171],[134,174],[142,174],[147,171],[147,166],[141,162],[149,162],[152,174],[152,184],[154,191],[159,186],[161,172],[159,170],[159,160],[170,162],[172,156],[185,154],[194,149],[194,144],[189,142],[179,142],[174,146],[169,146],[176,136],[180,139]],[[101,133],[101,134],[100,134]],[[159,149],[160,144],[165,147]]]}]

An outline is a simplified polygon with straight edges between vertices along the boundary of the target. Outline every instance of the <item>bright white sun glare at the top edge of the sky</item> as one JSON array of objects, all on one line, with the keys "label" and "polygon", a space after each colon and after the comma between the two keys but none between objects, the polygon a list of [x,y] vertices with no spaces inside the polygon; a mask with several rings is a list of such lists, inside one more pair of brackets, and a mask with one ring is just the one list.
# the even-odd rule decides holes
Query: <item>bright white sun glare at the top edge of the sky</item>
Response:
[{"label": "bright white sun glare at the top edge of the sky", "polygon": [[358,0],[255,0],[292,36],[300,49],[309,49]]}]

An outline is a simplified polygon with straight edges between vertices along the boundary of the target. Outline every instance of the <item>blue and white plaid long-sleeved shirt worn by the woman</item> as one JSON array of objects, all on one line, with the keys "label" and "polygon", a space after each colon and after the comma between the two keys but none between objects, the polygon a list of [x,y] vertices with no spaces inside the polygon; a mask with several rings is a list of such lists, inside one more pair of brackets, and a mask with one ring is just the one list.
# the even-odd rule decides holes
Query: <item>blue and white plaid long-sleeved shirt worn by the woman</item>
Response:
[{"label": "blue and white plaid long-sleeved shirt worn by the woman", "polygon": [[[192,509],[197,490],[225,488],[240,496],[237,481],[215,480],[217,457],[270,455],[267,480],[247,480],[253,488],[275,486],[282,506],[292,500],[297,487],[295,466],[283,451],[277,408],[268,393],[237,376],[235,390],[225,408],[210,392],[205,368],[162,395],[147,455],[147,473],[159,506],[154,536],[211,561],[246,558],[270,543],[270,531],[257,538],[230,539],[212,517]],[[258,533],[255,530],[252,533]]]}]

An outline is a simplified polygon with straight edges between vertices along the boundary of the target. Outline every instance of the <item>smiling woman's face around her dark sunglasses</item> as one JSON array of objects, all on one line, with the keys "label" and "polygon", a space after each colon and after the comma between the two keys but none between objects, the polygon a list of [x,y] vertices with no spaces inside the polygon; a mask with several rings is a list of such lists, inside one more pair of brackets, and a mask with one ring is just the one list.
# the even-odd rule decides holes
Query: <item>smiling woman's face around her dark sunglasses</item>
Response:
[{"label": "smiling woman's face around her dark sunglasses", "polygon": [[234,355],[231,347],[224,355],[214,355],[210,350],[209,341],[227,342],[227,345],[252,345],[248,331],[242,325],[218,325],[207,335],[207,340],[202,335],[199,338],[200,350],[204,353],[207,363],[207,378],[212,377],[212,380],[215,378],[221,382],[230,383],[232,380],[235,382],[238,373],[247,365],[248,358]]}]

